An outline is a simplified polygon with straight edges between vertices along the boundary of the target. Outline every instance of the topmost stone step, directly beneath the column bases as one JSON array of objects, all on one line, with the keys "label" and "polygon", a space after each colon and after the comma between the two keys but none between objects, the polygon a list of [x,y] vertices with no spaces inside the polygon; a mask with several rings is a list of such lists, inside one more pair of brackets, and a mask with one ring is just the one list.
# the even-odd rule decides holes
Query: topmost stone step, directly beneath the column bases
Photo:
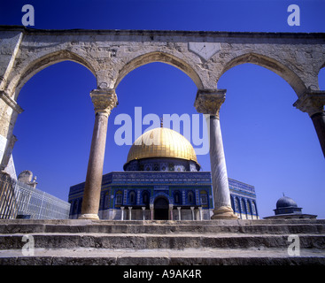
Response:
[{"label": "topmost stone step, directly beneath the column bases", "polygon": [[[131,223],[130,223],[131,222]],[[268,221],[267,221],[268,222]],[[325,233],[325,221],[0,221],[0,233]]]}]

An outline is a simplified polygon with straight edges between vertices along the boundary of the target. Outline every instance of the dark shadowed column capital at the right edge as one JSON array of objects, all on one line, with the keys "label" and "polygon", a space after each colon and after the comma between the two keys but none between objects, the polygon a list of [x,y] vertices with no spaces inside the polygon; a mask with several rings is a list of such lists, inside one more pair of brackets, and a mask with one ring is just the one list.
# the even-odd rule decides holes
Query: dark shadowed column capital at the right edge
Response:
[{"label": "dark shadowed column capital at the right edge", "polygon": [[306,112],[312,117],[316,113],[323,113],[325,105],[324,90],[310,90],[293,103],[298,110]]}]

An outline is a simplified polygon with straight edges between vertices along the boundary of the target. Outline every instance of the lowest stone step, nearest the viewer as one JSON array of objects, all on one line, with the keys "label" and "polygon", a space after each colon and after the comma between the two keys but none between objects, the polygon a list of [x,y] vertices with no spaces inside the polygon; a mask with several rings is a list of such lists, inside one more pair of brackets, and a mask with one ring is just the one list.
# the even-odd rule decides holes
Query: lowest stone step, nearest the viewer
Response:
[{"label": "lowest stone step, nearest the viewer", "polygon": [[[286,249],[35,249],[23,256],[20,249],[0,250],[0,265],[324,265],[324,250],[301,249],[289,256]],[[200,266],[193,266],[200,270]],[[127,268],[125,270],[128,270]],[[162,274],[155,274],[160,276]]]}]

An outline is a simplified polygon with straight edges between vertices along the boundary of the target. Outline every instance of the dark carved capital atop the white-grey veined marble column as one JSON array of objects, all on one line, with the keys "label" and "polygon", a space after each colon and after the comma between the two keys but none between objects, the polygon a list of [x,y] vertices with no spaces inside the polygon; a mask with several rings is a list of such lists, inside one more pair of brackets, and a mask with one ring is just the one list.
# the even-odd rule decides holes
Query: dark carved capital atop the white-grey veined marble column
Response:
[{"label": "dark carved capital atop the white-grey veined marble column", "polygon": [[197,112],[219,117],[222,103],[226,99],[226,89],[198,89],[194,107]]}]

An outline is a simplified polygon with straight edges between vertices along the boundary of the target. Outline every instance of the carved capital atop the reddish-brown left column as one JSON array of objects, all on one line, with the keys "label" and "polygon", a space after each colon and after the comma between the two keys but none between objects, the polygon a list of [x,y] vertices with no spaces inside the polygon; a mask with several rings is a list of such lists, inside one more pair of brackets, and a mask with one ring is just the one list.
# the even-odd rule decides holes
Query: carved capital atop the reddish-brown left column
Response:
[{"label": "carved capital atop the reddish-brown left column", "polygon": [[94,104],[95,113],[104,113],[110,116],[112,109],[118,104],[115,89],[94,89],[90,92],[91,101]]}]

